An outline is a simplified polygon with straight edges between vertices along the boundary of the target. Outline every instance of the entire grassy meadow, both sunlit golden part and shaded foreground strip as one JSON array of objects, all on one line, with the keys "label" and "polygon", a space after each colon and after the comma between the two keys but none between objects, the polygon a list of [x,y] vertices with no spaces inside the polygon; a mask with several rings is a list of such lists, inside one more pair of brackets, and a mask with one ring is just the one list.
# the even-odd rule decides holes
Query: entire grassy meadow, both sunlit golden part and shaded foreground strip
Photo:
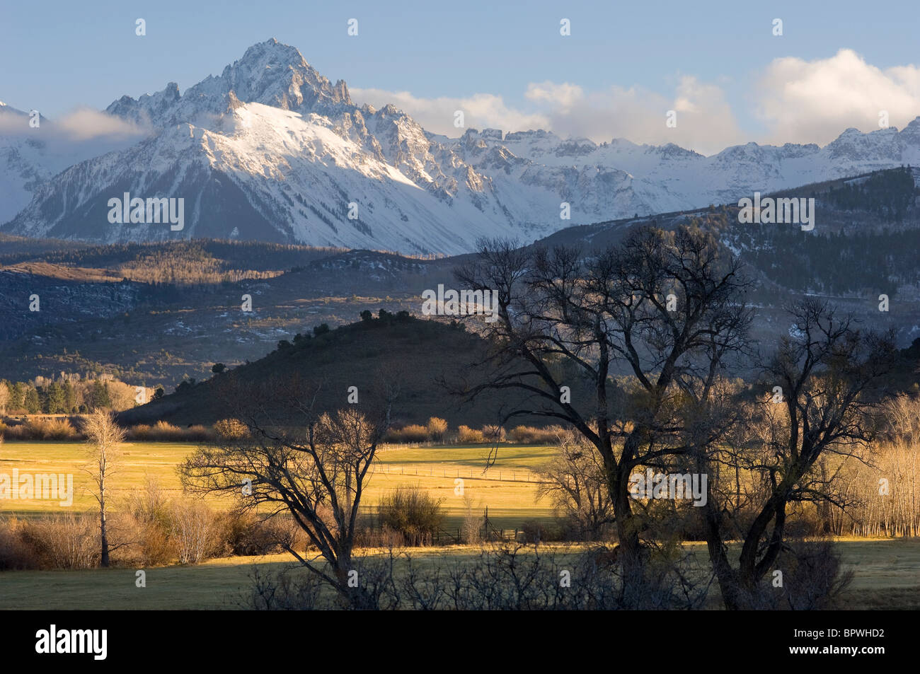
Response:
[{"label": "entire grassy meadow, both sunlit golden part and shaded foreground strip", "polygon": [[[176,466],[195,446],[180,442],[128,442],[122,447],[117,470],[110,478],[112,508],[118,509],[133,490],[154,477],[167,497],[181,493]],[[443,528],[454,531],[472,508],[481,516],[489,508],[496,528],[515,529],[526,520],[550,520],[552,509],[535,499],[536,466],[545,463],[552,449],[545,446],[502,445],[495,462],[489,461],[490,446],[443,447],[385,446],[378,453],[374,475],[364,497],[364,508],[373,509],[380,497],[397,486],[420,486],[442,499]],[[2,500],[0,517],[32,517],[68,509],[96,508],[89,490],[89,477],[82,470],[85,446],[77,442],[9,442],[0,445],[0,473],[64,473],[74,475],[74,505],[62,508],[57,501]],[[455,493],[463,480],[464,495]],[[214,508],[222,508],[213,500]],[[846,608],[910,608],[920,605],[920,539],[840,539],[845,568],[855,578],[846,592]],[[706,546],[685,543],[706,566]],[[575,546],[577,549],[577,546]],[[453,545],[412,550],[420,564],[433,564],[440,555],[473,560],[478,548]],[[228,609],[236,608],[250,587],[248,575],[291,565],[287,554],[211,559],[199,565],[169,565],[146,569],[146,588],[134,585],[134,569],[111,568],[71,571],[11,571],[0,573],[0,597],[6,607],[17,609]],[[303,571],[298,570],[297,573]],[[304,572],[305,573],[305,572]],[[712,606],[718,607],[718,589]]]}]

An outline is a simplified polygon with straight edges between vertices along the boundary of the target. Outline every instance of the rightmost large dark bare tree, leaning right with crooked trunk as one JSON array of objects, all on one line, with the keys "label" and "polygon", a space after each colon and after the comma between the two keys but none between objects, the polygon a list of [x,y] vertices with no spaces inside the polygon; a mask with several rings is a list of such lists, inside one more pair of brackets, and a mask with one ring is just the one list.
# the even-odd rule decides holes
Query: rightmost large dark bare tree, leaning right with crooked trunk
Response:
[{"label": "rightmost large dark bare tree, leaning right with crooked trunk", "polygon": [[[790,505],[841,505],[834,489],[838,474],[822,470],[821,460],[860,458],[859,450],[876,434],[874,410],[895,353],[891,335],[858,330],[851,317],[826,302],[804,300],[789,313],[790,334],[764,363],[769,394],[759,411],[730,446],[696,454],[701,470],[719,473],[719,466],[728,466],[734,474],[740,468],[759,486],[749,494],[752,517],[740,528],[729,508],[734,490],[719,479],[709,482],[707,545],[729,609],[751,606],[758,584],[788,551]],[[736,538],[742,550],[734,567],[727,541]]]}]

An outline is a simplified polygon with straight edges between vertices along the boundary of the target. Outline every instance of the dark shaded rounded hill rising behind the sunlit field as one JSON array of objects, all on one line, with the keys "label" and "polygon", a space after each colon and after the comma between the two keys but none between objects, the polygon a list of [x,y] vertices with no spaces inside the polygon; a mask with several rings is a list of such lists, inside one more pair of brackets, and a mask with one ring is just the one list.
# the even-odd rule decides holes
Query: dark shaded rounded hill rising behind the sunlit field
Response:
[{"label": "dark shaded rounded hill rising behind the sunlit field", "polygon": [[[264,358],[204,382],[180,385],[177,393],[122,412],[119,421],[123,425],[160,419],[179,426],[212,424],[234,416],[233,407],[246,395],[241,391],[257,389],[263,395],[269,392],[265,397],[278,397],[277,405],[267,406],[267,414],[279,423],[293,420],[284,411],[290,396],[303,395],[305,405],[306,398],[315,396],[314,410],[335,410],[348,405],[350,386],[358,387],[359,407],[373,411],[384,398],[383,382],[398,387],[392,409],[397,426],[443,417],[454,427],[478,428],[495,423],[500,409],[513,402],[514,393],[504,392],[484,394],[476,404],[463,405],[440,383],[442,378],[455,383],[468,377],[471,364],[486,352],[487,342],[460,324],[384,312],[328,332],[320,326],[318,332],[313,337],[297,336],[293,342],[282,340]],[[261,406],[266,408],[264,402]],[[522,417],[517,423],[545,425],[546,419]]]}]

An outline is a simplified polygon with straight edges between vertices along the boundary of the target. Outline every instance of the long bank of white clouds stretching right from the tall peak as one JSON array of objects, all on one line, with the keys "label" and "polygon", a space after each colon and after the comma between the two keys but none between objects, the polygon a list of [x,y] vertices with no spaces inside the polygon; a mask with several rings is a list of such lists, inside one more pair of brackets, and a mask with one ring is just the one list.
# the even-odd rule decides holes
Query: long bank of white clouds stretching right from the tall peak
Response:
[{"label": "long bank of white clouds stretching right from the tall peak", "polygon": [[[731,109],[726,87],[739,87],[725,75],[705,82],[681,76],[667,95],[642,86],[610,86],[588,91],[569,82],[533,82],[523,96],[529,109],[516,109],[500,96],[420,98],[409,92],[382,89],[352,90],[356,100],[376,107],[393,103],[426,129],[449,136],[454,110],[464,110],[466,127],[502,131],[546,129],[562,137],[588,137],[595,142],[627,138],[634,143],[676,143],[704,154],[736,144],[819,143],[834,140],[847,127],[879,128],[879,113],[887,110],[891,126],[903,128],[920,115],[920,66],[880,69],[856,51],[843,49],[814,61],[778,58],[754,74],[747,94],[754,120],[764,125],[756,135],[742,131]],[[677,113],[677,126],[668,128],[665,115]]]}]

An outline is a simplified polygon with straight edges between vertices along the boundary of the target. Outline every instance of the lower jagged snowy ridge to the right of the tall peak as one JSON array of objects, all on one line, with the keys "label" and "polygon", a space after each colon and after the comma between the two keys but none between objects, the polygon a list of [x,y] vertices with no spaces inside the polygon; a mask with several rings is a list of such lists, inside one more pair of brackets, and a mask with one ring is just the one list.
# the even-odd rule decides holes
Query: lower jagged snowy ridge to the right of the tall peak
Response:
[{"label": "lower jagged snowy ridge to the right of the tall peak", "polygon": [[581,222],[597,222],[737,202],[754,190],[916,165],[920,118],[903,131],[847,129],[823,148],[747,143],[708,157],[673,143],[637,145],[614,139],[597,144],[587,138],[563,140],[549,131],[502,136],[494,129],[470,130],[448,146],[491,177],[500,193],[512,186],[542,188],[571,202],[573,212],[587,216]]}]

